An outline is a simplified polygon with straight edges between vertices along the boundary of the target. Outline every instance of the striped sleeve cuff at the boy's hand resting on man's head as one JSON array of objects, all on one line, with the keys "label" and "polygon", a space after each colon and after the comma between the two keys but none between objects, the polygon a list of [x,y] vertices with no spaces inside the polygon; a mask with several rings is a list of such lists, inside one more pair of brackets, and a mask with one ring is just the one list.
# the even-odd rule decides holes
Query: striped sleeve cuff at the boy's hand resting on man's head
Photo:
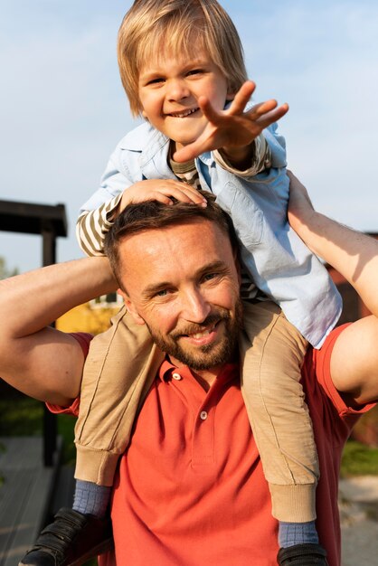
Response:
[{"label": "striped sleeve cuff at the boy's hand resting on man's head", "polygon": [[109,220],[116,210],[122,193],[93,211],[82,212],[76,223],[76,237],[87,256],[104,256],[104,240],[113,222]]}]

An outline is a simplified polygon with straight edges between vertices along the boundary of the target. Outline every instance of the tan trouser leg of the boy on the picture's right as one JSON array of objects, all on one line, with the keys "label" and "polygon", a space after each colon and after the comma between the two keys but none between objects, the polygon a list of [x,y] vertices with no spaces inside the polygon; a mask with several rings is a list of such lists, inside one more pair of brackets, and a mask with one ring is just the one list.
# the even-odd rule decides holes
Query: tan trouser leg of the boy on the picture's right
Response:
[{"label": "tan trouser leg of the boy on the picture's right", "polygon": [[299,383],[307,341],[274,303],[243,307],[242,393],[269,482],[272,514],[282,523],[312,522],[317,448]]}]

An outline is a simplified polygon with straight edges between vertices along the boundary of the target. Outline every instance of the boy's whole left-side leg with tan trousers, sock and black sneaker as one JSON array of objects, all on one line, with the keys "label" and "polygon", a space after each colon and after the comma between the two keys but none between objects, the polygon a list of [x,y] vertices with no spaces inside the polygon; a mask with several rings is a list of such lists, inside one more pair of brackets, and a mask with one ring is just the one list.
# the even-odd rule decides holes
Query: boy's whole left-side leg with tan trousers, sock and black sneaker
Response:
[{"label": "boy's whole left-side leg with tan trousers, sock and black sneaker", "polygon": [[55,515],[20,566],[81,564],[109,549],[106,511],[118,457],[128,446],[139,405],[164,357],[146,326],[136,325],[125,308],[109,331],[91,341],[76,426],[79,479],[73,509]]}]

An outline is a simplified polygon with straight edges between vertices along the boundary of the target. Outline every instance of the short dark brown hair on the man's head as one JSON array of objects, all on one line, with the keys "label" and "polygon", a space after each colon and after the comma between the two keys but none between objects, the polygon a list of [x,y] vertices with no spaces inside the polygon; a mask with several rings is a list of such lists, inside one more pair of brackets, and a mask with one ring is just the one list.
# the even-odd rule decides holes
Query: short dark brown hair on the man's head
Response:
[{"label": "short dark brown hair on the man's head", "polygon": [[[174,203],[172,206],[158,203],[157,201],[146,201],[144,203],[128,204],[120,212],[107,233],[104,242],[105,253],[109,258],[110,266],[117,278],[119,288],[124,288],[120,280],[119,246],[122,240],[140,232],[164,230],[169,226],[198,220],[213,222],[230,239],[232,250],[235,256],[238,256],[239,243],[230,216],[215,203],[215,197],[212,193],[203,191],[199,191],[199,193],[206,198],[206,207],[193,203],[182,203],[173,199]],[[198,234],[198,242],[199,244],[201,242],[201,233]]]}]

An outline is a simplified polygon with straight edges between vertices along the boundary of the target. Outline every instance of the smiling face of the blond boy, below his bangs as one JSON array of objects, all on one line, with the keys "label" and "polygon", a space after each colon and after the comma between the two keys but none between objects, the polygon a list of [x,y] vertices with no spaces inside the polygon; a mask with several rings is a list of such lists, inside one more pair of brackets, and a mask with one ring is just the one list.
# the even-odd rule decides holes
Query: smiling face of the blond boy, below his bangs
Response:
[{"label": "smiling face of the blond boy, below his bangs", "polygon": [[199,50],[184,58],[163,52],[146,63],[140,73],[138,93],[143,116],[178,150],[194,142],[207,124],[198,99],[206,97],[215,110],[233,98],[222,71]]}]

